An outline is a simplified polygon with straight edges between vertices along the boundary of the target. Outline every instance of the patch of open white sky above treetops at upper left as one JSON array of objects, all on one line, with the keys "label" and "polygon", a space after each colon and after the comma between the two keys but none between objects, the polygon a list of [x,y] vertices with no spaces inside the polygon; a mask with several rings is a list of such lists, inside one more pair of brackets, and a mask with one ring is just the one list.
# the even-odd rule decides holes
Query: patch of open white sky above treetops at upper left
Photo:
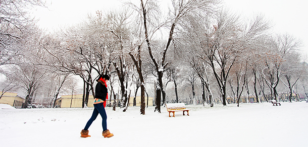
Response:
[{"label": "patch of open white sky above treetops at upper left", "polygon": [[[95,14],[97,10],[104,11],[113,7],[120,7],[119,0],[47,0],[48,9],[37,8],[33,12],[38,25],[53,32],[60,27],[80,23],[88,14]],[[51,5],[50,5],[51,3]]]}]

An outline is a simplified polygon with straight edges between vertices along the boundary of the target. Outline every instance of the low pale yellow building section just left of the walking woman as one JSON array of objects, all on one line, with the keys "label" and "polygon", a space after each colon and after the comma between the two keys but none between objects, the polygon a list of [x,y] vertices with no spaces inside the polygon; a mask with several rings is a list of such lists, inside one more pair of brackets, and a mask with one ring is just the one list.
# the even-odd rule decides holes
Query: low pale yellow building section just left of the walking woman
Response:
[{"label": "low pale yellow building section just left of the walking woman", "polygon": [[[56,105],[60,108],[82,108],[82,95],[63,95],[61,98],[57,99]],[[92,95],[89,95],[88,107],[93,106],[94,98]],[[72,104],[72,105],[71,105]]]}]

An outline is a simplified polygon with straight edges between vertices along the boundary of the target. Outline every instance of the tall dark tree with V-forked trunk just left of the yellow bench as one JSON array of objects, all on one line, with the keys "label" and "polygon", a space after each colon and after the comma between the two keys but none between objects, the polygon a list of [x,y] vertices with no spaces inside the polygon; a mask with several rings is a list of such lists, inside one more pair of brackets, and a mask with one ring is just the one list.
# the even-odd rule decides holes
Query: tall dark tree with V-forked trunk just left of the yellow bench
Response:
[{"label": "tall dark tree with V-forked trunk just left of the yellow bench", "polygon": [[[173,41],[173,35],[180,29],[180,23],[187,18],[190,17],[198,17],[199,15],[207,15],[208,13],[213,11],[213,7],[217,1],[209,0],[209,1],[185,1],[185,0],[172,0],[171,7],[169,8],[168,16],[163,16],[160,12],[160,8],[157,2],[152,0],[142,1],[140,0],[140,7],[136,7],[137,11],[140,14],[141,21],[143,22],[143,29],[145,34],[145,40],[147,43],[147,49],[150,55],[150,58],[155,65],[155,69],[157,72],[157,78],[159,82],[159,91],[161,91],[163,96],[163,103],[166,103],[166,92],[164,90],[163,84],[163,75],[168,65],[166,62],[167,51],[170,48],[170,44]],[[155,33],[157,30],[162,27],[167,27],[168,37],[166,43],[163,47],[163,52],[161,55],[161,60],[157,60],[157,58],[153,55],[153,39],[155,37]],[[164,31],[164,30],[162,30]],[[164,34],[164,33],[163,33]],[[158,95],[157,95],[158,96]],[[156,99],[156,110],[160,112],[161,100]]]}]

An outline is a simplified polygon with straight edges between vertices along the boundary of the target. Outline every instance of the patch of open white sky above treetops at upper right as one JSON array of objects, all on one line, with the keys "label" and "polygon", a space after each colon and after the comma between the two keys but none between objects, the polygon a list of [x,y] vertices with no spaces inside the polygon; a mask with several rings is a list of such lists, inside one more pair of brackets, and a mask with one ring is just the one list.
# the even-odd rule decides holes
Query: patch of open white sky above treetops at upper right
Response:
[{"label": "patch of open white sky above treetops at upper right", "polygon": [[303,0],[224,0],[225,6],[241,15],[264,14],[274,31],[288,33],[303,42],[301,52],[308,54],[308,2]]}]

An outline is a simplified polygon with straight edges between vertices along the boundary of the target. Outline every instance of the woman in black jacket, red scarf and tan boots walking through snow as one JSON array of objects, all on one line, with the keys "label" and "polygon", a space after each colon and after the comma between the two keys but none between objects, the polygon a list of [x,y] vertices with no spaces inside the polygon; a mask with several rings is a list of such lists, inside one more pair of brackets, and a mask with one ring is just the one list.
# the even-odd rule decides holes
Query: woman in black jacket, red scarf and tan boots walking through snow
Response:
[{"label": "woman in black jacket, red scarf and tan boots walking through snow", "polygon": [[100,75],[97,79],[97,84],[95,87],[95,99],[94,99],[94,110],[92,113],[91,118],[85,125],[84,129],[81,130],[80,137],[90,137],[88,128],[92,124],[92,122],[96,119],[97,115],[100,114],[102,118],[102,136],[112,137],[114,134],[110,133],[107,129],[107,114],[105,111],[106,107],[106,100],[108,99],[108,89],[107,89],[107,82],[109,81],[108,75]]}]

